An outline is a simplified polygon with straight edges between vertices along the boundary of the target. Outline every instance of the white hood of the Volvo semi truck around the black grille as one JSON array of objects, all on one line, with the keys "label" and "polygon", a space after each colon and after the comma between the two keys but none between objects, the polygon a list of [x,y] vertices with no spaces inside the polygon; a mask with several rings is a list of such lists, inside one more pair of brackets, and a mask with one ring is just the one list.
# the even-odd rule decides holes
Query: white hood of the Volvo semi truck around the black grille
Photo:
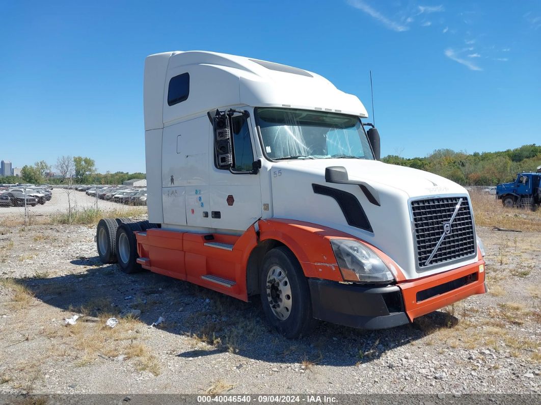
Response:
[{"label": "white hood of the Volvo semi truck around the black grille", "polygon": [[[345,167],[349,180],[369,185],[380,205],[370,201],[358,185],[327,183],[325,169],[331,166]],[[371,243],[390,256],[408,280],[476,261],[470,258],[458,265],[444,263],[428,270],[417,267],[410,201],[443,196],[461,196],[469,201],[463,187],[444,177],[378,161],[344,158],[275,162],[270,171],[274,217],[324,225]],[[372,231],[349,225],[337,201],[329,194],[316,192],[314,185],[353,194]]]}]

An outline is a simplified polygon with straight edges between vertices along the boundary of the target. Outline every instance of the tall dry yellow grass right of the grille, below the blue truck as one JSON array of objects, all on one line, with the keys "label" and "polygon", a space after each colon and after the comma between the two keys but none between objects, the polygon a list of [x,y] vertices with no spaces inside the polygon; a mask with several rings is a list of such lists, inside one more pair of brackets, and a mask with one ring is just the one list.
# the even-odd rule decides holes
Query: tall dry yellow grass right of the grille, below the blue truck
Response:
[{"label": "tall dry yellow grass right of the grille, below the blue truck", "polygon": [[500,200],[482,192],[470,194],[476,225],[522,231],[541,231],[541,210],[505,208]]}]

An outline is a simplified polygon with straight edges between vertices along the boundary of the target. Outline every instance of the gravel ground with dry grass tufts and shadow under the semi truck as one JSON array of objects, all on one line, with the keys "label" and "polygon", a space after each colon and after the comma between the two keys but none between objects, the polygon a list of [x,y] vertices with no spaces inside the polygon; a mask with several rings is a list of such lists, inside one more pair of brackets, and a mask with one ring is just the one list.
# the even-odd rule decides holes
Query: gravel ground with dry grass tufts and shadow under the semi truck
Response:
[{"label": "gravel ground with dry grass tufts and shadow under the semi truck", "polygon": [[269,330],[258,300],[101,264],[94,234],[0,227],[0,393],[541,393],[539,233],[478,228],[489,294],[301,340]]}]

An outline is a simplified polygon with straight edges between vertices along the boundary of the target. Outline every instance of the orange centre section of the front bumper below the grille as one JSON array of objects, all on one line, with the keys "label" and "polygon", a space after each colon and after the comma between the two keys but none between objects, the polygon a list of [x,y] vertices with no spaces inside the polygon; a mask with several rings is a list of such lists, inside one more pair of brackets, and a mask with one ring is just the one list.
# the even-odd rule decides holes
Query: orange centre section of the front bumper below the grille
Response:
[{"label": "orange centre section of the front bumper below the grille", "polygon": [[[402,290],[404,296],[406,314],[408,318],[410,318],[410,321],[413,321],[414,318],[421,315],[429,314],[454,302],[463,300],[470,295],[486,293],[484,264],[484,260],[480,259],[476,263],[445,271],[444,273],[434,274],[414,281],[405,281],[399,283],[398,286]],[[479,271],[481,265],[483,266],[481,267],[483,271]],[[465,277],[473,273],[477,274],[476,281],[448,291],[447,293],[439,294],[418,302],[417,293],[420,291],[458,280],[461,277]]]}]

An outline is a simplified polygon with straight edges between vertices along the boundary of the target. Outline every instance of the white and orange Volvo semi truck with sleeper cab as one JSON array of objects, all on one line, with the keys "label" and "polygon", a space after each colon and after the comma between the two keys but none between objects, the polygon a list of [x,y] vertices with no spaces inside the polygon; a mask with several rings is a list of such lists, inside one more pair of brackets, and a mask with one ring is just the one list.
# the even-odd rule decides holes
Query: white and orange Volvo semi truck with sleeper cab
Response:
[{"label": "white and orange Volvo semi truck with sleeper cab", "polygon": [[259,296],[289,338],[317,320],[391,328],[486,292],[467,191],[382,163],[357,96],[207,51],[148,56],[143,91],[148,221],[101,220],[103,262]]}]

